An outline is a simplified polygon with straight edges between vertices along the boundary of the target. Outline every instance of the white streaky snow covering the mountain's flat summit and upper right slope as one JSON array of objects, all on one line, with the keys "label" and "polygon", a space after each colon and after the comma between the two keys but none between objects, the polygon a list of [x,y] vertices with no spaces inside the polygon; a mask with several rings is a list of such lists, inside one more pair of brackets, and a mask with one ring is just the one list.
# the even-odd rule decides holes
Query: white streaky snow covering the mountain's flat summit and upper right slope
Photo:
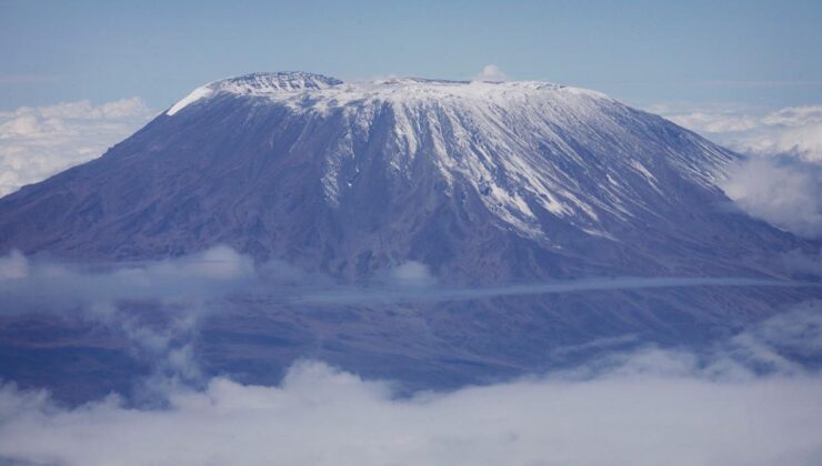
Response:
[{"label": "white streaky snow covering the mountain's flat summit and upper right slope", "polygon": [[[539,81],[345,83],[305,72],[254,73],[198,88],[167,115],[179,118],[218,98],[341,123],[323,162],[331,205],[354,189],[363,144],[378,126],[388,126],[391,138],[381,163],[390,176],[412,176],[412,165],[423,156],[448,192],[469,184],[500,221],[530,237],[545,235],[537,206],[588,234],[609,237],[603,214],[626,221],[649,209],[640,192],[665,195],[656,174],[663,165],[715,189],[722,165],[734,158],[684,130],[668,134],[671,123],[602,93]],[[683,142],[689,142],[684,149]]]}]

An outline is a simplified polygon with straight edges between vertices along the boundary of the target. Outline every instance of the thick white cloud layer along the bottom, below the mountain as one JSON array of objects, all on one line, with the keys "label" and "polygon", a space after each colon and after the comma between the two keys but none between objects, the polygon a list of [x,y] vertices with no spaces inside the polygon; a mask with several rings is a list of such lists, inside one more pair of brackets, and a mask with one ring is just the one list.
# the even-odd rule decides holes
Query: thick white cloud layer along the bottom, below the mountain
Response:
[{"label": "thick white cloud layer along the bottom, below the mountain", "polygon": [[[785,342],[819,352],[822,308],[742,332],[708,359],[646,348],[604,367],[397,397],[320,362],[277,386],[169,384],[163,407],[69,408],[0,389],[0,458],[60,465],[816,465],[822,377],[756,375]],[[810,321],[809,321],[810,320]],[[795,348],[794,348],[795,350]],[[818,353],[816,353],[818,354]]]}]

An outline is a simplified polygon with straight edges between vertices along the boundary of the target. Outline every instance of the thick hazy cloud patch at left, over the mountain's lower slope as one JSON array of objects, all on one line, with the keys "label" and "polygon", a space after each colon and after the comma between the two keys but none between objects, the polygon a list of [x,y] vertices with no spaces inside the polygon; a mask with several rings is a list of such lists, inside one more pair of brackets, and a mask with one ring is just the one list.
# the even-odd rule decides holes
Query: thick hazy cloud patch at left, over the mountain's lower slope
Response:
[{"label": "thick hazy cloud patch at left, over the mountain's lower slope", "polygon": [[167,304],[215,298],[257,277],[253,261],[228,246],[143,263],[79,264],[0,256],[0,313],[103,308],[122,301]]}]

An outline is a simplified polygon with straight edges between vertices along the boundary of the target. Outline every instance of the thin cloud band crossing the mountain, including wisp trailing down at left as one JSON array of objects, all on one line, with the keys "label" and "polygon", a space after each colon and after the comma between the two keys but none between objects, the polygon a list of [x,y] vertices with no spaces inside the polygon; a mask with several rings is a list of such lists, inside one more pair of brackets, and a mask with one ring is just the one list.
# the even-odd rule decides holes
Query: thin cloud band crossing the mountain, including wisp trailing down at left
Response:
[{"label": "thin cloud band crossing the mountain, including wisp trailing down at left", "polygon": [[[795,251],[785,261],[814,276],[815,256]],[[244,296],[288,306],[402,304],[475,301],[589,291],[671,287],[820,286],[740,277],[608,277],[550,283],[454,287],[439,284],[422,263],[410,261],[369,286],[341,285],[279,261],[254,264],[227,246],[162,261],[114,264],[66,263],[18,252],[0,256],[0,317],[54,315],[107,327],[123,336],[142,361],[166,376],[199,375],[190,343],[203,318],[231,311]],[[138,310],[139,312],[136,312]]]}]

